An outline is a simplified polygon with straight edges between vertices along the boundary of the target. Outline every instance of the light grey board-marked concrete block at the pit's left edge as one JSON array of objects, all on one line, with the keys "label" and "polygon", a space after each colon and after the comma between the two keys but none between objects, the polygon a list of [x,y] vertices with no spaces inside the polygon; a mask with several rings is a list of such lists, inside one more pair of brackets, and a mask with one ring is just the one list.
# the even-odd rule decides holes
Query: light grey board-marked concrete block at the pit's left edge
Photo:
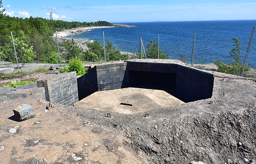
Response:
[{"label": "light grey board-marked concrete block at the pit's left edge", "polygon": [[45,88],[46,100],[52,103],[73,105],[78,102],[76,72],[45,74],[37,80],[38,87]]}]

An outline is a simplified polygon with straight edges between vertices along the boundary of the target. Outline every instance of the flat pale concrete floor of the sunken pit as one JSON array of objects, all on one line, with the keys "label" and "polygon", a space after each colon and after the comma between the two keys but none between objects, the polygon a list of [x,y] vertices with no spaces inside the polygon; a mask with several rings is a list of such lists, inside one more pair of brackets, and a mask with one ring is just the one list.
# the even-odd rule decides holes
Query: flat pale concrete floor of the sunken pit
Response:
[{"label": "flat pale concrete floor of the sunken pit", "polygon": [[[132,104],[132,106],[120,103]],[[74,106],[132,114],[177,104],[184,102],[162,90],[122,88],[95,92],[75,103]]]}]

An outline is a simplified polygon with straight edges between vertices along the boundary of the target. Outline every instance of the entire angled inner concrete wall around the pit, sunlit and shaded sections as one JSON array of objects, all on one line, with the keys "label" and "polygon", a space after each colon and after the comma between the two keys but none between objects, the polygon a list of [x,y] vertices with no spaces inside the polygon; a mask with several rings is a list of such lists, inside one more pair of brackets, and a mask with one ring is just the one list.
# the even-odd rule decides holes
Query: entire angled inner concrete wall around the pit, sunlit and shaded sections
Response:
[{"label": "entire angled inner concrete wall around the pit, sunlit and shaded sections", "polygon": [[96,91],[137,87],[161,89],[184,102],[211,98],[214,75],[188,66],[125,61],[95,66],[78,78],[79,100]]}]

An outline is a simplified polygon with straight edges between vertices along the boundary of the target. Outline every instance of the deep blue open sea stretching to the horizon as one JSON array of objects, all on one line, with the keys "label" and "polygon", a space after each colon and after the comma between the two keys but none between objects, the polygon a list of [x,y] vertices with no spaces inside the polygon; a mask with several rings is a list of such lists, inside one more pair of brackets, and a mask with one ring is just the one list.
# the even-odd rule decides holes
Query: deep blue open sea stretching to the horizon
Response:
[{"label": "deep blue open sea stretching to the horizon", "polygon": [[[137,27],[97,28],[68,37],[83,39],[85,42],[97,39],[103,44],[104,31],[105,43],[108,39],[120,51],[135,54],[135,52],[140,53],[140,37],[146,50],[150,40],[158,42],[159,35],[159,48],[164,54],[169,54],[170,59],[178,60],[185,55],[188,63],[192,61],[195,38],[193,63],[199,64],[213,63],[217,59],[229,64],[234,62],[229,58],[229,51],[235,48],[232,38],[236,37],[240,42],[243,64],[256,20],[121,22],[120,24]],[[256,34],[252,39],[247,63],[251,68],[256,68]]]}]

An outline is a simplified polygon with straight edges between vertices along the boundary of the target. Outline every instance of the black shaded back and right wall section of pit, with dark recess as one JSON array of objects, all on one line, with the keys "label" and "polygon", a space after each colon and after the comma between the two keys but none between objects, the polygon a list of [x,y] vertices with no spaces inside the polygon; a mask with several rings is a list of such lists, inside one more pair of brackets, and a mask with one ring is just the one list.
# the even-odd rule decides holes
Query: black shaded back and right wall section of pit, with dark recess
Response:
[{"label": "black shaded back and right wall section of pit, with dark recess", "polygon": [[[214,82],[212,73],[173,63],[127,62],[131,87],[139,84],[139,88],[161,89],[184,102],[193,102],[212,96]],[[134,76],[136,78],[132,77],[138,70],[144,73]],[[134,82],[135,79],[137,82]],[[144,85],[138,80],[143,81]]]}]

